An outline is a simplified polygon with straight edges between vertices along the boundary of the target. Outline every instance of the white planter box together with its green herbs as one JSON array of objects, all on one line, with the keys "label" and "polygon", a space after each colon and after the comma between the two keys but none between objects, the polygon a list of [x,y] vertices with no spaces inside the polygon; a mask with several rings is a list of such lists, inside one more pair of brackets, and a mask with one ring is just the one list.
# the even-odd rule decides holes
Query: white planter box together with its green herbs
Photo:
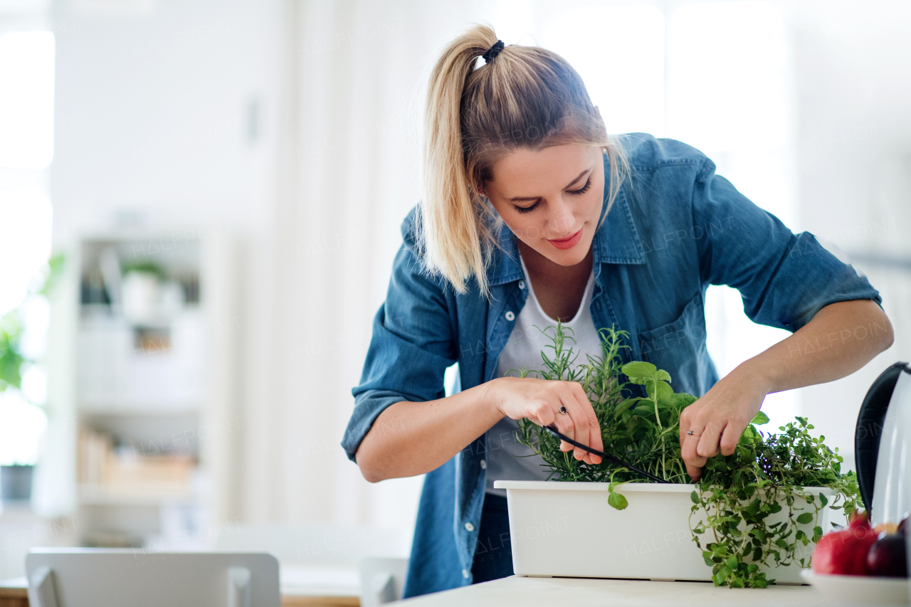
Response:
[{"label": "white planter box together with its green herbs", "polygon": [[[531,373],[584,386],[605,451],[670,484],[606,461],[585,464],[560,451],[544,428],[520,421],[518,440],[544,459],[550,480],[563,482],[496,482],[507,489],[517,574],[741,588],[802,581],[800,569],[809,567],[830,511],[854,509],[860,497],[855,474],[841,472],[837,449],[813,437],[803,417],[763,433],[756,426],[768,417],[760,413],[734,454],[710,458],[691,484],[678,437],[681,411],[696,397],[675,394],[670,375],[655,365],[622,365],[624,331],[602,330],[603,356],[584,362],[563,327],[547,333],[553,345],[542,353],[544,368]],[[633,396],[630,385],[643,386],[646,396]]]}]

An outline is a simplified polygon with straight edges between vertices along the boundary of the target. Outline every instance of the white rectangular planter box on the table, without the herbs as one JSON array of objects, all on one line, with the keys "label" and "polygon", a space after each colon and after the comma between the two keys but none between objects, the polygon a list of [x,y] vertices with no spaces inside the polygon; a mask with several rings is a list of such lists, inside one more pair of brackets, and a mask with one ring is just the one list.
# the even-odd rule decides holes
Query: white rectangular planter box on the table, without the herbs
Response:
[{"label": "white rectangular planter box on the table, without the herbs", "polygon": [[[690,531],[693,485],[621,485],[616,490],[630,503],[623,510],[608,505],[608,483],[497,480],[494,487],[507,490],[516,575],[711,581],[711,567]],[[807,489],[834,495],[826,488]],[[794,511],[801,505],[794,504]],[[828,507],[819,513],[817,524],[824,530],[830,528],[829,514]],[[693,524],[698,520],[694,516]],[[798,528],[812,537],[813,526]],[[702,536],[703,546],[709,536],[711,530]],[[808,559],[814,544],[798,548],[797,558]],[[799,565],[762,571],[777,582],[803,583]]]}]

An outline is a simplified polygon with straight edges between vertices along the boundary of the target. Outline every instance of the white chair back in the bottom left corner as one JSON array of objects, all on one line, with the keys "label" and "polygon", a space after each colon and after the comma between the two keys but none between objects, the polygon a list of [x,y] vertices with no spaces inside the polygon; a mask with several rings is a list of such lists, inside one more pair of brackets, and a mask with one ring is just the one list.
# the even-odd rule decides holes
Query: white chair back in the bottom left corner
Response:
[{"label": "white chair back in the bottom left corner", "polygon": [[271,554],[36,549],[31,607],[280,607]]}]

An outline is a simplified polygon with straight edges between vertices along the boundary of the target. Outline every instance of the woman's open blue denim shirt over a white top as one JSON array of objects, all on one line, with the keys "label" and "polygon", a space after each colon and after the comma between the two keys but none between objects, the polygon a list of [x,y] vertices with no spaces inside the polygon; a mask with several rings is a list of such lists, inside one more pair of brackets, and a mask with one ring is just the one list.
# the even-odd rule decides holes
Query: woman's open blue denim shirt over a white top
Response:
[{"label": "woman's open blue denim shirt over a white top", "polygon": [[[705,394],[718,381],[706,350],[703,298],[710,284],[740,291],[753,322],[792,332],[828,304],[881,303],[851,266],[812,234],[794,235],[747,200],[715,175],[715,165],[697,149],[640,133],[628,136],[624,147],[630,179],[592,242],[590,307],[597,327],[630,333],[624,361],[650,361],[670,373],[675,391]],[[464,389],[493,379],[526,301],[516,237],[507,228],[487,270],[488,300],[476,282],[458,294],[424,272],[414,223],[412,211],[386,301],[374,318],[361,384],[353,389],[354,411],[342,442],[352,460],[387,406],[442,398],[447,366],[458,363]],[[486,435],[426,475],[405,596],[471,583],[485,453]]]}]

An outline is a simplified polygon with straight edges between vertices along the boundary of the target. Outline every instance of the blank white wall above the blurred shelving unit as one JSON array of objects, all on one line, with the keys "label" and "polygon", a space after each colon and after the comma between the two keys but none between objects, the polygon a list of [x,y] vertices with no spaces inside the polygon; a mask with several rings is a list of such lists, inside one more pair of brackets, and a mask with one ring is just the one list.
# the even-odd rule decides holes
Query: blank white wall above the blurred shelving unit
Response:
[{"label": "blank white wall above the blurred shelving unit", "polygon": [[[266,230],[281,3],[145,4],[148,12],[91,11],[75,1],[57,7],[57,242],[106,227],[124,211],[153,224]],[[261,108],[255,140],[251,103]]]}]

